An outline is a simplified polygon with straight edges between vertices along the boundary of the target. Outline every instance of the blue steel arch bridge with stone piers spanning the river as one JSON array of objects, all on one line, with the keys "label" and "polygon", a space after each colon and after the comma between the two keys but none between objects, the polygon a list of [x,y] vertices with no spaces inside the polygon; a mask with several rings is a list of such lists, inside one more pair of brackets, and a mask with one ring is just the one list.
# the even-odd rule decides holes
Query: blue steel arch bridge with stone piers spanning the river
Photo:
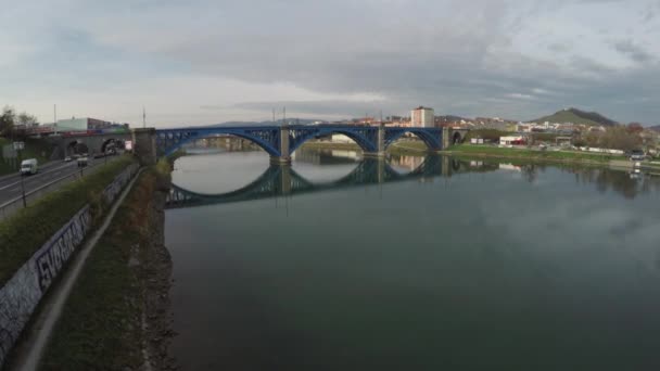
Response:
[{"label": "blue steel arch bridge with stone piers spanning the river", "polygon": [[344,135],[361,148],[365,156],[382,157],[385,150],[406,133],[421,139],[429,150],[439,151],[452,142],[462,141],[465,130],[449,128],[407,128],[358,125],[294,125],[202,127],[155,130],[157,156],[169,155],[181,145],[198,139],[231,135],[254,142],[270,155],[274,165],[291,163],[291,154],[310,139]]}]

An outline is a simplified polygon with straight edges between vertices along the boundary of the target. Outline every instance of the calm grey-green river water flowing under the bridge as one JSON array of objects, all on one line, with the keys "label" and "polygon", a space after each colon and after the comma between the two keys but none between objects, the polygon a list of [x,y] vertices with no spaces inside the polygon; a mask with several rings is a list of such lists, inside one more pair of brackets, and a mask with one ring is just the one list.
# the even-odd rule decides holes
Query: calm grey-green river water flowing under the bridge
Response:
[{"label": "calm grey-green river water flowing under the bridge", "polygon": [[660,370],[660,178],[299,152],[176,162],[249,193],[166,213],[185,370]]}]

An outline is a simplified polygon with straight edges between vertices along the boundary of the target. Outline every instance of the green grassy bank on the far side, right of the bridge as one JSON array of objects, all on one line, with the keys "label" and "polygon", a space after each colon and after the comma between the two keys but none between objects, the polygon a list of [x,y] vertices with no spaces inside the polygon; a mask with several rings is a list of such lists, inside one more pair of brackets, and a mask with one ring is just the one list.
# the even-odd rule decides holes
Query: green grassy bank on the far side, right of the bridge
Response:
[{"label": "green grassy bank on the far side, right of the bridge", "polygon": [[452,145],[442,153],[466,157],[494,157],[507,159],[559,161],[559,162],[596,162],[609,163],[611,159],[625,159],[624,156],[606,155],[576,151],[534,151],[528,149],[509,149],[490,145]]}]

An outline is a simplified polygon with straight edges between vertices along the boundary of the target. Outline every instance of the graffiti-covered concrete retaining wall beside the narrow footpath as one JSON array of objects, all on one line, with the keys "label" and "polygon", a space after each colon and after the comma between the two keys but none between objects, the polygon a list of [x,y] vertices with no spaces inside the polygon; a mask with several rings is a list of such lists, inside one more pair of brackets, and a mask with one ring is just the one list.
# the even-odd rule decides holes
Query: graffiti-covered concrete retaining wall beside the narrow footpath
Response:
[{"label": "graffiti-covered concrete retaining wall beside the narrow footpath", "polygon": [[[128,166],[103,190],[103,196],[109,204],[116,199],[138,169],[137,164]],[[90,228],[91,214],[89,205],[86,205],[0,289],[0,368],[35,308],[80,246]]]}]

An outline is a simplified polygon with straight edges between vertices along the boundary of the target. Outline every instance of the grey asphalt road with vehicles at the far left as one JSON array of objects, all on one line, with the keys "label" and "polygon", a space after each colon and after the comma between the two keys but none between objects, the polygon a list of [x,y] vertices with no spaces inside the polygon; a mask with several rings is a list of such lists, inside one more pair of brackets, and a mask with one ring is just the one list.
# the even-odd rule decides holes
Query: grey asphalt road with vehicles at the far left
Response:
[{"label": "grey asphalt road with vehicles at the far left", "polygon": [[[109,157],[111,161],[116,157]],[[102,164],[104,158],[89,158],[88,167]],[[56,161],[46,164],[43,167],[39,167],[39,171],[35,175],[23,177],[23,183],[25,187],[25,193],[51,182],[58,178],[62,178],[67,175],[72,175],[76,171],[80,171],[75,161],[65,163],[63,161]],[[85,169],[87,171],[87,169]],[[0,178],[0,205],[8,201],[14,200],[21,196],[21,176],[13,175]]]}]

